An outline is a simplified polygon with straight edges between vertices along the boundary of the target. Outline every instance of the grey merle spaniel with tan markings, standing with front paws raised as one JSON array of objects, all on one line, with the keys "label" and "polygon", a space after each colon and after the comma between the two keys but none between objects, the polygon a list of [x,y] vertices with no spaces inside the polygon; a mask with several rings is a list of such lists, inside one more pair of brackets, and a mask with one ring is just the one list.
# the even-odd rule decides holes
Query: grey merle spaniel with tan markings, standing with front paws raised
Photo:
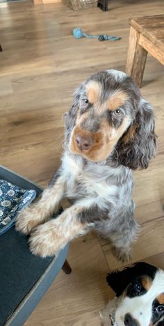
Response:
[{"label": "grey merle spaniel with tan markings, standing with front paws raised", "polygon": [[[155,149],[154,110],[133,80],[117,70],[86,79],[66,115],[61,166],[40,201],[17,217],[33,254],[52,256],[95,228],[117,258],[129,259],[138,233],[131,170],[146,169]],[[65,197],[71,207],[50,219]]]}]

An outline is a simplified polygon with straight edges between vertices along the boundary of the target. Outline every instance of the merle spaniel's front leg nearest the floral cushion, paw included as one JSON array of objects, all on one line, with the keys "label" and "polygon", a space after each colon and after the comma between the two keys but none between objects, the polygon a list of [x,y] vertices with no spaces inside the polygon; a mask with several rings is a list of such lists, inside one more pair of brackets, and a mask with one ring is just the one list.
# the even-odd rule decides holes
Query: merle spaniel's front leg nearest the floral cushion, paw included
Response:
[{"label": "merle spaniel's front leg nearest the floral cushion, paw included", "polygon": [[16,219],[16,230],[24,234],[31,232],[35,226],[46,222],[57,210],[65,192],[65,178],[60,176],[52,187],[42,192],[41,199],[19,213]]}]

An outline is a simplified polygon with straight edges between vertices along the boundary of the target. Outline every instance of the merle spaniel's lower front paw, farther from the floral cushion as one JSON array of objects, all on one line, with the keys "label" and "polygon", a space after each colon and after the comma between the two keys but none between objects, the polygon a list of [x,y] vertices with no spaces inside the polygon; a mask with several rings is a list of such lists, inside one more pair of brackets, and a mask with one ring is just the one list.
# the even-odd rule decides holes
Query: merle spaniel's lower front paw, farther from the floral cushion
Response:
[{"label": "merle spaniel's lower front paw, farther from the floral cushion", "polygon": [[29,247],[35,256],[43,258],[54,256],[60,249],[60,240],[55,228],[49,227],[51,222],[47,222],[35,228],[29,239]]}]

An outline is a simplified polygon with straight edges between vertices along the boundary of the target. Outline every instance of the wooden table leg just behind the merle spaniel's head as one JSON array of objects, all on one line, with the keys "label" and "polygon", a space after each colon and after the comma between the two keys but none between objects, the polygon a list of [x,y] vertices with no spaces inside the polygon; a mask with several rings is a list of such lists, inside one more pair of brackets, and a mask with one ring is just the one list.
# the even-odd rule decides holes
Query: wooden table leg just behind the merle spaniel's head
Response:
[{"label": "wooden table leg just behind the merle spaniel's head", "polygon": [[131,27],[125,71],[141,87],[147,60],[147,51],[138,44],[139,38],[140,33]]}]

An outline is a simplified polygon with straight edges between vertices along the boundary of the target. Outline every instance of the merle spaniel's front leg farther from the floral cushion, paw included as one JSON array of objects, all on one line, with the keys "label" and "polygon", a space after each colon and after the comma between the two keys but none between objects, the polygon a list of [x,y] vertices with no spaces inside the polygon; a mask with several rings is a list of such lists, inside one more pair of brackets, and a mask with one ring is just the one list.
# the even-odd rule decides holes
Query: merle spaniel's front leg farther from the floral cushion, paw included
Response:
[{"label": "merle spaniel's front leg farther from the floral cushion, paw included", "polygon": [[89,226],[94,224],[88,221],[81,222],[81,212],[85,209],[83,203],[84,201],[79,201],[56,219],[35,228],[29,240],[32,253],[42,257],[54,256],[67,242],[86,233]]}]

